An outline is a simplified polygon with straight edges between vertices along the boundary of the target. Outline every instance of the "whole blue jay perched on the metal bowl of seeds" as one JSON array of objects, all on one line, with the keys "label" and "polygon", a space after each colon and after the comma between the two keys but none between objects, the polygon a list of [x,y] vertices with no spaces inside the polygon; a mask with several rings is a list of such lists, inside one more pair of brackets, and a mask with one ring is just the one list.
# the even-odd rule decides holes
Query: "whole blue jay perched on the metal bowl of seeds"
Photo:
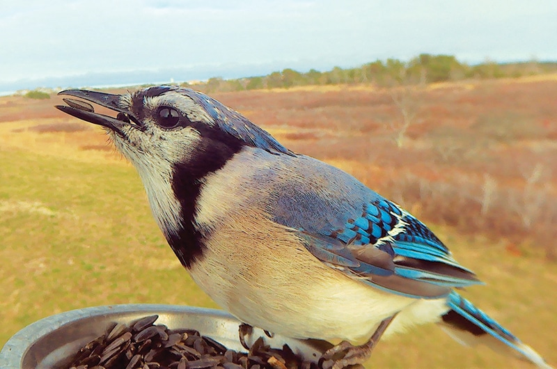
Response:
[{"label": "whole blue jay perched on the metal bowl of seeds", "polygon": [[359,365],[383,336],[426,323],[551,368],[458,293],[482,282],[422,221],[214,98],[180,86],[58,95],[134,165],[175,256],[217,304],[265,331],[341,340],[322,368]]}]

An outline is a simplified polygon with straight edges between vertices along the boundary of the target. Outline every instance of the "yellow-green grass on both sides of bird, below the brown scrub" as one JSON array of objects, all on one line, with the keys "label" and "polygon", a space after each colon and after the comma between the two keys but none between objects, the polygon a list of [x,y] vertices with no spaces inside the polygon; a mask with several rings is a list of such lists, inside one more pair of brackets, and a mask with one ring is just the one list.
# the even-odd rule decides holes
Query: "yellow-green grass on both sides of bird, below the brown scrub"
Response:
[{"label": "yellow-green grass on both sides of bird, below the brown scrub", "polygon": [[[535,249],[436,233],[487,286],[464,295],[557,363],[557,266]],[[27,324],[75,308],[157,303],[216,307],[191,281],[123,162],[85,162],[0,147],[0,346]],[[529,368],[466,349],[435,325],[380,342],[374,368]]]}]

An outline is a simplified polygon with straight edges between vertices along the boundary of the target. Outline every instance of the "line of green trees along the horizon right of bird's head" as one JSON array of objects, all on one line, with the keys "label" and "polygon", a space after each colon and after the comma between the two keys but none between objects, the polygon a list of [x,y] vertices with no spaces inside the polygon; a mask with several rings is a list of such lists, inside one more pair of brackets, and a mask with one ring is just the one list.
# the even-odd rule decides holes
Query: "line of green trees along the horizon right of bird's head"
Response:
[{"label": "line of green trees along the horizon right of bird's head", "polygon": [[[400,86],[432,84],[463,79],[518,78],[535,74],[557,72],[557,63],[528,61],[522,63],[495,63],[486,61],[476,65],[461,63],[452,55],[420,54],[410,61],[395,58],[366,63],[358,68],[320,72],[311,69],[297,72],[287,68],[266,76],[223,79],[213,77],[195,88],[207,93],[258,90],[265,88],[291,88],[295,86],[332,84],[375,84],[377,86]],[[189,86],[182,83],[182,86]]]}]

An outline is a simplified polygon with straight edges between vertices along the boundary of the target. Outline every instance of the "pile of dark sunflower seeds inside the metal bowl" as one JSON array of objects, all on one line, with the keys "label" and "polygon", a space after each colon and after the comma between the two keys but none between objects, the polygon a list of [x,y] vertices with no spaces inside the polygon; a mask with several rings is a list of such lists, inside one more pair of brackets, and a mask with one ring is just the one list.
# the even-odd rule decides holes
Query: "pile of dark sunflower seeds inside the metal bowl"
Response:
[{"label": "pile of dark sunflower seeds inside the metal bowl", "polygon": [[256,340],[249,352],[228,350],[191,329],[169,330],[150,315],[127,326],[113,324],[61,369],[317,369],[288,345],[272,349]]}]

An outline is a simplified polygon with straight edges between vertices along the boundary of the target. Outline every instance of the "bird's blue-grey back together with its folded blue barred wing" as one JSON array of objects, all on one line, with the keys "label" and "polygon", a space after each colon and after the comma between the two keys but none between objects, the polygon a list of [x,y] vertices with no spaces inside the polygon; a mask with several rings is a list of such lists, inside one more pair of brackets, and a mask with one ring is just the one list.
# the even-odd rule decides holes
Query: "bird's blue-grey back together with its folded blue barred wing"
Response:
[{"label": "bird's blue-grey back together with its folded blue barred wing", "polygon": [[421,221],[351,175],[303,155],[258,155],[249,180],[272,194],[269,215],[329,267],[414,298],[480,283]]}]

